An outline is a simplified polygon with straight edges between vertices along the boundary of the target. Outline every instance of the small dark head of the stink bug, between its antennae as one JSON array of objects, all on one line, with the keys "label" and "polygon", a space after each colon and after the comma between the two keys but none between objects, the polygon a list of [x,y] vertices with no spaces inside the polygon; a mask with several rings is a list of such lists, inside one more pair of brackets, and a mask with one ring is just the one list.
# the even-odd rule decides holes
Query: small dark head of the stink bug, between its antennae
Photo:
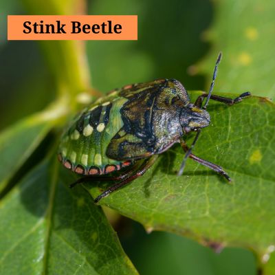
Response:
[{"label": "small dark head of the stink bug, between its antennae", "polygon": [[189,103],[182,109],[180,121],[184,133],[189,133],[208,126],[210,115],[206,110]]}]

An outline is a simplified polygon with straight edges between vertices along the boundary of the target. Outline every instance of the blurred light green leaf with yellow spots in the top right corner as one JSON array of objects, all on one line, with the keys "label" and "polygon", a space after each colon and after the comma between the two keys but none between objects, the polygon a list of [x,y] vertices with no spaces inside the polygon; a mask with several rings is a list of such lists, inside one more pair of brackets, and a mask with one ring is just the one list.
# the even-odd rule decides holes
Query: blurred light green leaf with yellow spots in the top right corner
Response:
[{"label": "blurred light green leaf with yellow spots in the top right corner", "polygon": [[216,91],[275,98],[274,1],[224,0],[217,2],[217,16],[203,38],[212,43],[212,50],[199,67],[208,74],[210,83],[214,60],[220,51]]}]

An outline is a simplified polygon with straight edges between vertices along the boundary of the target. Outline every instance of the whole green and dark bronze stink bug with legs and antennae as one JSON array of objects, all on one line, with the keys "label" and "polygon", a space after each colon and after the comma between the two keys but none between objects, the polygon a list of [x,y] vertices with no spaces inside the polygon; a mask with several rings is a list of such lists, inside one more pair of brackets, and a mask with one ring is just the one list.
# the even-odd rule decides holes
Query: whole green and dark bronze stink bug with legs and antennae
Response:
[{"label": "whole green and dark bronze stink bug with legs and antennae", "polygon": [[[98,202],[143,175],[157,156],[176,142],[186,151],[177,175],[184,172],[190,157],[230,181],[221,166],[192,154],[201,129],[210,123],[206,111],[209,100],[232,105],[250,96],[250,92],[235,99],[212,95],[220,61],[221,53],[208,94],[201,94],[194,104],[179,81],[161,79],[116,89],[84,109],[63,134],[58,151],[58,159],[66,168],[84,175],[71,187],[84,181],[115,181],[96,197]],[[197,134],[189,148],[182,137],[190,131]],[[115,171],[120,173],[109,175]]]}]

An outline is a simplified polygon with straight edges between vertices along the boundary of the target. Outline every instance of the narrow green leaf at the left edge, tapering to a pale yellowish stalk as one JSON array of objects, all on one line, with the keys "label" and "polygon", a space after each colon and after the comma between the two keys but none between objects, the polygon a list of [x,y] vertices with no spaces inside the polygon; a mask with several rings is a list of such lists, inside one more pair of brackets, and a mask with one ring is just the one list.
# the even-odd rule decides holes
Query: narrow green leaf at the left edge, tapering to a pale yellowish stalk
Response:
[{"label": "narrow green leaf at the left edge, tapering to a pale yellowish stalk", "polygon": [[67,99],[61,98],[45,111],[24,118],[0,133],[0,192],[65,115],[66,104]]}]

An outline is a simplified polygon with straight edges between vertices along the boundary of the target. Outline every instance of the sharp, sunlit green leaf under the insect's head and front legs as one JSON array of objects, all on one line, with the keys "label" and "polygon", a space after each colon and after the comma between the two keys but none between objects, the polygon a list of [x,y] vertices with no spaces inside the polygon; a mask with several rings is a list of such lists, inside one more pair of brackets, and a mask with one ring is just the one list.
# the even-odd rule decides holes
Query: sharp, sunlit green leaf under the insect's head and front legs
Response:
[{"label": "sharp, sunlit green leaf under the insect's head and front legs", "polygon": [[[191,93],[192,102],[197,95]],[[211,124],[193,153],[225,168],[232,184],[192,159],[177,177],[184,153],[175,145],[144,176],[100,203],[140,221],[148,231],[177,232],[209,245],[245,246],[263,256],[275,240],[274,104],[257,97],[230,107],[211,100],[208,111]],[[85,186],[93,197],[106,188]]]}]

